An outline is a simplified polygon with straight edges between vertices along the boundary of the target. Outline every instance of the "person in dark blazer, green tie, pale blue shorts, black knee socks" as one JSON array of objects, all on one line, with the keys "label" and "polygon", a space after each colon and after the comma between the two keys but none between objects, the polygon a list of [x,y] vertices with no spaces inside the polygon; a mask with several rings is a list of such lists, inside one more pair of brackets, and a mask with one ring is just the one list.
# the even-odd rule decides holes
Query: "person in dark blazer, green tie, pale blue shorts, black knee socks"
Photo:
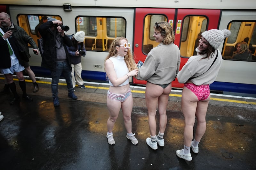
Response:
[{"label": "person in dark blazer, green tie, pale blue shorts, black knee socks", "polygon": [[19,79],[19,85],[23,92],[22,97],[28,101],[32,101],[26,93],[26,83],[23,77],[22,71],[24,67],[20,64],[21,57],[19,54],[19,44],[14,36],[12,36],[12,31],[7,31],[0,28],[0,50],[1,50],[1,64],[0,71],[4,74],[7,80],[8,86],[14,94],[14,98],[10,101],[10,104],[14,104],[20,100],[19,95],[16,91],[16,85],[13,81],[12,74],[15,72],[17,78]]}]

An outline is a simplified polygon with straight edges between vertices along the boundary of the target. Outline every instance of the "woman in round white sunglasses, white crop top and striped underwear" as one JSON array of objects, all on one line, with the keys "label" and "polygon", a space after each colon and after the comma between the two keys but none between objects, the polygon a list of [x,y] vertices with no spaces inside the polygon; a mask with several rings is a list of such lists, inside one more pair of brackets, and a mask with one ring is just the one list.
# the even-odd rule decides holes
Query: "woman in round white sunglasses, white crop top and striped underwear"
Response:
[{"label": "woman in round white sunglasses, white crop top and striped underwear", "polygon": [[108,144],[115,144],[112,129],[116,122],[120,108],[122,108],[124,126],[127,130],[126,138],[132,141],[132,144],[138,144],[138,140],[132,133],[132,92],[130,89],[129,78],[137,76],[138,68],[133,60],[130,51],[130,43],[124,37],[117,37],[109,47],[109,54],[105,59],[106,77],[109,82],[107,94],[107,107],[109,118],[107,121]]}]

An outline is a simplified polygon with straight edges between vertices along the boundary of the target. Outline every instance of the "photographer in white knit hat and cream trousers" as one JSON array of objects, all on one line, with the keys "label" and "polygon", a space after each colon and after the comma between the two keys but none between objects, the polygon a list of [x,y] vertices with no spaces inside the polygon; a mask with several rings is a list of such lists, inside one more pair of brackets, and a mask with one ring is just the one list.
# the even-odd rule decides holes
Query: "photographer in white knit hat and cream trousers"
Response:
[{"label": "photographer in white knit hat and cream trousers", "polygon": [[84,47],[84,35],[85,35],[84,31],[78,31],[75,34],[72,34],[70,36],[70,39],[73,45],[71,47],[67,47],[68,54],[70,55],[70,59],[71,59],[71,67],[72,67],[71,75],[72,75],[72,83],[73,83],[74,91],[75,91],[76,84],[78,85],[78,87],[81,87],[82,89],[85,88],[84,80],[81,77],[81,73],[82,73],[81,56],[86,55],[86,50]]}]

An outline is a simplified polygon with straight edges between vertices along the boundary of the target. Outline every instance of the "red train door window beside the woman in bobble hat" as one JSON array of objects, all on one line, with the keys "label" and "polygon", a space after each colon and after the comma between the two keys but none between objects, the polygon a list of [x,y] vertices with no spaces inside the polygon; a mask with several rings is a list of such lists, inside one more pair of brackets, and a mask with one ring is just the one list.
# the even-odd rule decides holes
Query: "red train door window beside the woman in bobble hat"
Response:
[{"label": "red train door window beside the woman in bobble hat", "polygon": [[206,30],[207,19],[204,16],[187,16],[183,20],[180,55],[190,57],[196,55],[196,47],[201,33]]}]

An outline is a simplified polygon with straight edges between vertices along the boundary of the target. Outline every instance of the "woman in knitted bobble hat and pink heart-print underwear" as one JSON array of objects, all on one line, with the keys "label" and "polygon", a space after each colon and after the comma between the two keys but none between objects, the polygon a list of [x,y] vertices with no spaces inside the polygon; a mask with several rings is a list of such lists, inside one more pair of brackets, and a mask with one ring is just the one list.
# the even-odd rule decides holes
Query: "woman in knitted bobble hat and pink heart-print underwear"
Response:
[{"label": "woman in knitted bobble hat and pink heart-print underwear", "polygon": [[[176,155],[185,160],[192,160],[190,147],[198,153],[198,144],[206,130],[206,111],[210,100],[209,85],[217,77],[221,65],[221,52],[218,47],[231,32],[211,29],[202,33],[197,55],[191,56],[177,75],[180,83],[185,83],[182,90],[181,108],[185,117],[184,149]],[[196,134],[193,139],[193,127],[197,120]]]}]

